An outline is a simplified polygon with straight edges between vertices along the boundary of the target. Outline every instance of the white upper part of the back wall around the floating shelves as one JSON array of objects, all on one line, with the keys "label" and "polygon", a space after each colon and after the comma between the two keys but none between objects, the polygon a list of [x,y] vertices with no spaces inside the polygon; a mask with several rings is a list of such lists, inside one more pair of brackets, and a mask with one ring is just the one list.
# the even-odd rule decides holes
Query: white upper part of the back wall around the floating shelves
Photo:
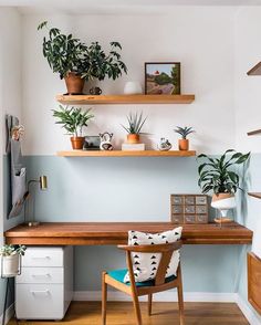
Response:
[{"label": "white upper part of the back wall around the floating shelves", "polygon": [[[145,132],[157,143],[166,136],[175,145],[176,125],[191,125],[191,136],[198,151],[221,153],[234,146],[233,112],[233,29],[231,8],[178,7],[166,14],[140,15],[74,15],[23,17],[23,117],[27,128],[27,155],[53,155],[70,148],[70,141],[54,119],[51,109],[58,107],[55,95],[65,92],[63,81],[54,75],[42,56],[43,32],[36,25],[49,20],[50,25],[71,30],[86,42],[107,45],[117,40],[123,45],[123,60],[128,75],[116,82],[104,82],[104,93],[122,93],[127,80],[144,83],[144,62],[180,61],[182,93],[195,93],[191,105],[111,105],[95,106],[95,120],[88,134],[109,130],[116,147],[125,138],[121,123],[130,109],[143,109],[149,116]],[[88,87],[87,87],[88,88]],[[225,116],[226,115],[226,123]],[[39,127],[41,125],[41,127]],[[177,147],[176,147],[177,148]]]}]

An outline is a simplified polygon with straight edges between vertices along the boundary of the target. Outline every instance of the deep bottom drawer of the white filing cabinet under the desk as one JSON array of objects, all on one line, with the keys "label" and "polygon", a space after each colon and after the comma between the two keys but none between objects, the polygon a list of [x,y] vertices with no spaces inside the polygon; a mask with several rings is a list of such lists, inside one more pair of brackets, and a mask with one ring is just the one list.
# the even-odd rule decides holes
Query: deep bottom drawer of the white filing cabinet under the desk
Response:
[{"label": "deep bottom drawer of the white filing cabinet under the desk", "polygon": [[20,319],[61,319],[64,315],[63,284],[17,284],[15,301]]}]

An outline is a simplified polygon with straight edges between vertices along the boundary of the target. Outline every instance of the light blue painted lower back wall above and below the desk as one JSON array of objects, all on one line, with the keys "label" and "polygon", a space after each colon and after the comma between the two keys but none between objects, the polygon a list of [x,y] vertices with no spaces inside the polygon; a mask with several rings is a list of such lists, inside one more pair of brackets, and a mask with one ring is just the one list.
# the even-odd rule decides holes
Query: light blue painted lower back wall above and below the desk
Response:
[{"label": "light blue painted lower back wall above and below the desk", "polygon": [[[60,158],[28,156],[29,178],[44,174],[49,190],[35,187],[40,221],[168,221],[169,195],[200,192],[195,158]],[[186,245],[185,290],[234,292],[237,245]],[[124,268],[115,247],[75,248],[75,290],[100,290],[103,270]]]}]

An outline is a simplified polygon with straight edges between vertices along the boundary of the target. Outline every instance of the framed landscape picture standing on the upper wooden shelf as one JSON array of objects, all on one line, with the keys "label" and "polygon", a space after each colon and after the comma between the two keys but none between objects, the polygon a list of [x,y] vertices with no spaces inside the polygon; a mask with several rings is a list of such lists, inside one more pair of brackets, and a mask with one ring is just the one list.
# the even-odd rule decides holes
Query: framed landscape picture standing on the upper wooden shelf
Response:
[{"label": "framed landscape picture standing on the upper wooden shelf", "polygon": [[145,94],[180,94],[180,62],[146,62]]}]

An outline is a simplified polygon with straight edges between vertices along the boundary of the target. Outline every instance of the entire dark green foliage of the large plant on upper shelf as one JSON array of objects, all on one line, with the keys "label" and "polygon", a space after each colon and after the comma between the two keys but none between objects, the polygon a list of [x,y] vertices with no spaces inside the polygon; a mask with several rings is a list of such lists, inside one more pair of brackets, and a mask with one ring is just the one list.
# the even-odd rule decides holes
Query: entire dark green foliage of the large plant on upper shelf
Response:
[{"label": "entire dark green foliage of the large plant on upper shelf", "polygon": [[[48,28],[48,22],[39,24],[38,30]],[[69,72],[81,75],[82,78],[116,80],[122,71],[127,73],[125,63],[116,52],[122,50],[118,42],[111,42],[111,51],[106,54],[98,42],[87,46],[72,34],[64,35],[56,28],[49,30],[48,38],[43,38],[43,56],[46,57],[50,67],[63,78]]]}]

